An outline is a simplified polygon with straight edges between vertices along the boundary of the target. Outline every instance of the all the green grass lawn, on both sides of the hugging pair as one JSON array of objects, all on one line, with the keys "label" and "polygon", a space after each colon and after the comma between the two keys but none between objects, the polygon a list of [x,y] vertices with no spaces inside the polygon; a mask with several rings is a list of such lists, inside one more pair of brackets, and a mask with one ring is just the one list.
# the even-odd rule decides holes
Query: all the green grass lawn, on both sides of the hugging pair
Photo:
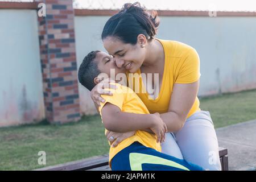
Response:
[{"label": "all the green grass lawn, on both sides of the hugging pair", "polygon": [[[256,90],[200,98],[214,126],[256,119]],[[38,152],[46,152],[46,166],[107,154],[108,142],[99,115],[65,125],[23,125],[0,129],[0,170],[41,168]]]}]

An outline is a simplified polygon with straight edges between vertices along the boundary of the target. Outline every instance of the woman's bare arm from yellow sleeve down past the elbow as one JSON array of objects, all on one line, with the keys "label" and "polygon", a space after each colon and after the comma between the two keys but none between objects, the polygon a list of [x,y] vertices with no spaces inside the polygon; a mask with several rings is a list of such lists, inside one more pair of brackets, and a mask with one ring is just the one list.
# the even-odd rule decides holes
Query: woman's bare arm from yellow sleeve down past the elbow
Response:
[{"label": "woman's bare arm from yellow sleeve down past the elbow", "polygon": [[198,90],[199,80],[191,84],[174,84],[168,112],[160,114],[168,132],[176,132],[183,127]]}]

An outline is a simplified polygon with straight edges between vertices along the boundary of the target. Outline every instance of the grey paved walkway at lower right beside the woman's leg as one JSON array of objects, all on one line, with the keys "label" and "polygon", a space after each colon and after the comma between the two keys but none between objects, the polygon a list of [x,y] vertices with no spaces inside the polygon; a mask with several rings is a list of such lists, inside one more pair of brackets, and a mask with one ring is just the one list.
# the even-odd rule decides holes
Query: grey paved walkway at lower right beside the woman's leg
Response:
[{"label": "grey paved walkway at lower right beside the woman's leg", "polygon": [[216,129],[218,145],[228,148],[229,170],[256,170],[256,120]]}]

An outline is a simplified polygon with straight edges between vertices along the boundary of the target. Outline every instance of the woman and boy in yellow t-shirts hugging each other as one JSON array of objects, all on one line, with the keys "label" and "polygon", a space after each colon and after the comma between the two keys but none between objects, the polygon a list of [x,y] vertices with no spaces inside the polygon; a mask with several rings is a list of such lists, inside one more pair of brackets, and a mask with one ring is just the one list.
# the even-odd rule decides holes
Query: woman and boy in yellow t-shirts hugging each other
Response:
[{"label": "woman and boy in yellow t-shirts hugging each other", "polygon": [[[221,170],[213,121],[197,97],[199,55],[187,44],[155,38],[159,23],[156,11],[126,3],[102,30],[108,53],[92,51],[80,65],[79,82],[91,91],[111,145],[110,167]],[[139,77],[122,85],[106,78],[113,70]]]}]

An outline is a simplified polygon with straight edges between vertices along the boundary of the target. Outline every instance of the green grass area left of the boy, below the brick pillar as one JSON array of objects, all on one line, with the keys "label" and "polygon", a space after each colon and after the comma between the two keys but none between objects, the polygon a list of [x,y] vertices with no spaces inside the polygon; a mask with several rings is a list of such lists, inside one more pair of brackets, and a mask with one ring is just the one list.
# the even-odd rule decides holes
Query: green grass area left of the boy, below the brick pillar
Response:
[{"label": "green grass area left of the boy, below the brick pillar", "polygon": [[108,142],[99,115],[65,125],[25,125],[0,129],[0,170],[28,170],[46,152],[46,166],[107,154]]}]

